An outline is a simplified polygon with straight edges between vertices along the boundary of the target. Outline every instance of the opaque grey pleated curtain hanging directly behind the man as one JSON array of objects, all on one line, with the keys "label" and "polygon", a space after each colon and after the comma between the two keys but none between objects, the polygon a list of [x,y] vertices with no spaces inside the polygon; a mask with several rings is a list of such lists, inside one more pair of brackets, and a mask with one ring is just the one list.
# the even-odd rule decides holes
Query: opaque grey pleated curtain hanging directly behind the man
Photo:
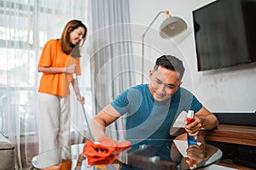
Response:
[{"label": "opaque grey pleated curtain hanging directly behind the man", "polygon": [[[135,85],[130,8],[127,0],[90,1],[90,64],[96,111]],[[125,138],[124,118],[108,127],[113,139]]]}]

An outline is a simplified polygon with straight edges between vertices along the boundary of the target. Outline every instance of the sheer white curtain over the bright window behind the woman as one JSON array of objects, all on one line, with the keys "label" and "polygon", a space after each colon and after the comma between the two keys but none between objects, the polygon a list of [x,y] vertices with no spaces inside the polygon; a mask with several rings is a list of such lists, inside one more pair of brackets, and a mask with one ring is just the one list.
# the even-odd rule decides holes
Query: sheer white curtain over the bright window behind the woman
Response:
[{"label": "sheer white curtain over the bright window behind the woman", "polygon": [[50,38],[61,37],[68,20],[88,25],[87,11],[85,0],[0,1],[0,132],[15,145],[15,169],[31,167],[32,156],[38,153],[41,50]]}]

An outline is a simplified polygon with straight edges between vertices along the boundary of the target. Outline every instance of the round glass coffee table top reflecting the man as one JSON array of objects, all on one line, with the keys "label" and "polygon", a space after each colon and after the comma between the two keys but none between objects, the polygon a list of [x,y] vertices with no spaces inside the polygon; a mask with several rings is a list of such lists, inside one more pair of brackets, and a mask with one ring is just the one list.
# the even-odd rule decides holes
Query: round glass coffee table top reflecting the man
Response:
[{"label": "round glass coffee table top reflecting the man", "polygon": [[223,153],[210,144],[188,145],[172,139],[135,139],[111,164],[88,165],[84,144],[49,150],[32,158],[36,169],[197,169],[220,161]]}]

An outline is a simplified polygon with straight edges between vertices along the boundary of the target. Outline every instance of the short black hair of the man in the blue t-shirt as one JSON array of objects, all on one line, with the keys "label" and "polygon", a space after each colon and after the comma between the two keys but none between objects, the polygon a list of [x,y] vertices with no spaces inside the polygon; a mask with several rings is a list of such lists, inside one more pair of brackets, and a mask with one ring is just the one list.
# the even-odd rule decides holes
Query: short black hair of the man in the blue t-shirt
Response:
[{"label": "short black hair of the man in the blue t-shirt", "polygon": [[179,81],[182,80],[185,71],[182,60],[177,59],[177,57],[172,55],[162,55],[160,58],[156,59],[154,71],[157,71],[159,66],[162,66],[171,71],[176,71],[179,75]]}]

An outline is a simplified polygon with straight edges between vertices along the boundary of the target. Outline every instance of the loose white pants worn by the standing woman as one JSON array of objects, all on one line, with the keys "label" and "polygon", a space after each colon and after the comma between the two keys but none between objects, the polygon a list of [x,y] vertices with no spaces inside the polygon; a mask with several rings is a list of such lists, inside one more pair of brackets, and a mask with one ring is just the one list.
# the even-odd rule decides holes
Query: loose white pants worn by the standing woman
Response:
[{"label": "loose white pants worn by the standing woman", "polygon": [[70,98],[38,94],[39,153],[69,144]]}]

